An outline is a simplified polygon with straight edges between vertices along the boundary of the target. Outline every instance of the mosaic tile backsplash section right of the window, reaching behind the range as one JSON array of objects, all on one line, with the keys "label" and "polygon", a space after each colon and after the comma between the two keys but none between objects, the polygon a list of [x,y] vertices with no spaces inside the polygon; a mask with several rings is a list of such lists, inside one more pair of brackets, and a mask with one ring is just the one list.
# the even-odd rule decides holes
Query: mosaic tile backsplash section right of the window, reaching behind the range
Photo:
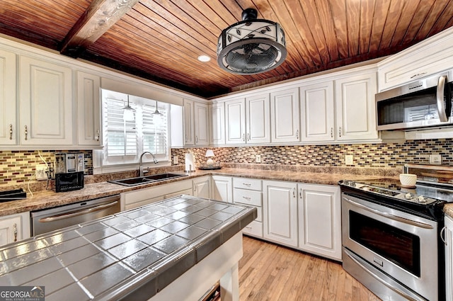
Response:
[{"label": "mosaic tile backsplash section right of the window, reaching behind the range", "polygon": [[[196,164],[206,161],[208,148],[172,149],[178,164],[184,164],[185,153],[192,150]],[[399,168],[404,164],[429,164],[430,154],[440,154],[442,165],[453,166],[453,140],[411,140],[403,143],[329,144],[270,147],[210,147],[214,161],[224,163],[289,164],[308,166],[355,166],[371,168]],[[345,164],[345,155],[352,155],[353,164]]]}]

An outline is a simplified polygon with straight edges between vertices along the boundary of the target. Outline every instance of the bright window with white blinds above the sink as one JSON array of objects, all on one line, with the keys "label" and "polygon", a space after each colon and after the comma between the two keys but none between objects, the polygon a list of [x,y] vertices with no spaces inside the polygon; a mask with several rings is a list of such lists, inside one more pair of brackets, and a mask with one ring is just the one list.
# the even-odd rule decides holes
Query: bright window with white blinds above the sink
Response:
[{"label": "bright window with white blinds above the sink", "polygon": [[103,165],[137,164],[142,152],[168,161],[168,104],[129,96],[134,120],[125,120],[127,94],[107,90],[102,94]]}]

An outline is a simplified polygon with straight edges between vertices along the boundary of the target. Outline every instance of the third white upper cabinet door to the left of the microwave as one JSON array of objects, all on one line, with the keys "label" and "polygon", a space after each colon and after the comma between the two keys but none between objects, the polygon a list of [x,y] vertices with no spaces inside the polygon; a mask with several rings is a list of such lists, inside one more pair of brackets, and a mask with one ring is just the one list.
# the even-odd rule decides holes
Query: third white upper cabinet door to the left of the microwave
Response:
[{"label": "third white upper cabinet door to the left of the microwave", "polygon": [[299,142],[299,90],[270,93],[272,142]]}]

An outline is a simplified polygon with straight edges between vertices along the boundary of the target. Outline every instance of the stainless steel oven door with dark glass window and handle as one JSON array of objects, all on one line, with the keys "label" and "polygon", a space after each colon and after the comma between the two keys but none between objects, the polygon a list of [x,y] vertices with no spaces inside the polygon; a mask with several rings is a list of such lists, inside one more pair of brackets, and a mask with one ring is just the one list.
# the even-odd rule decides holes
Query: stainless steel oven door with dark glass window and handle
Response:
[{"label": "stainless steel oven door with dark glass window and handle", "polygon": [[363,273],[387,278],[386,283],[396,280],[394,287],[406,286],[428,300],[438,299],[437,222],[345,193],[342,222],[343,254],[365,261],[362,268],[368,271]]}]

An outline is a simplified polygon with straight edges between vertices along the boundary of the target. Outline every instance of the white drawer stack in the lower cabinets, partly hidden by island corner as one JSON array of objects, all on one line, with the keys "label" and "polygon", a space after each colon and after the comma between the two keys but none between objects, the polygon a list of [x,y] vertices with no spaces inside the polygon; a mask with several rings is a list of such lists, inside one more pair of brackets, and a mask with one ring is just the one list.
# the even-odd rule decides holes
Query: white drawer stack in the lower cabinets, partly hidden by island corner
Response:
[{"label": "white drawer stack in the lower cabinets, partly hidden by island corner", "polygon": [[258,216],[242,229],[242,232],[253,237],[263,238],[263,188],[261,180],[255,178],[233,178],[234,203],[253,206]]}]

